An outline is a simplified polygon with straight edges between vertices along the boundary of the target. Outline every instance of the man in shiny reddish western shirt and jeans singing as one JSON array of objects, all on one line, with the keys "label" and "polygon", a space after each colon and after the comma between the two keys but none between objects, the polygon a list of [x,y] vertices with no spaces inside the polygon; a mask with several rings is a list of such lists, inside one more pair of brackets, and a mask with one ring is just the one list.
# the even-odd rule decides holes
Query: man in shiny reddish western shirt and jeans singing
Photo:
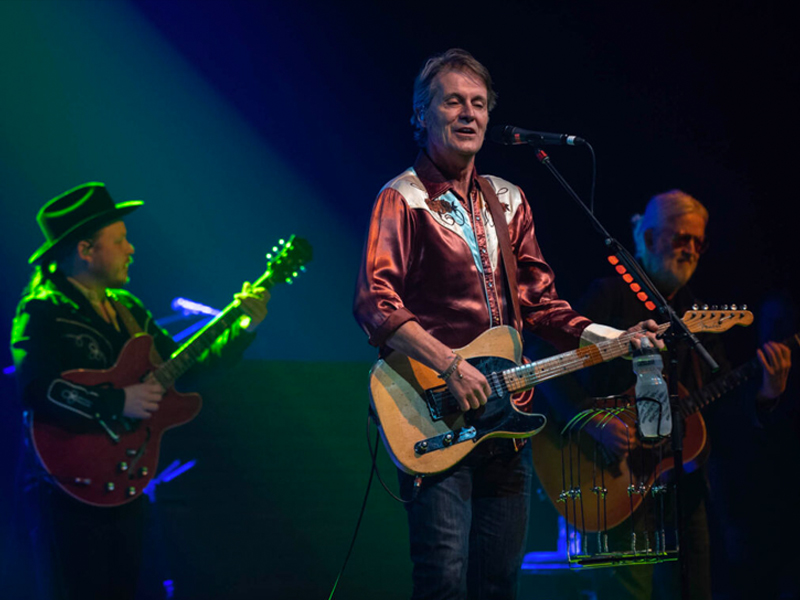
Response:
[{"label": "man in shiny reddish western shirt and jeans singing", "polygon": [[[412,117],[422,151],[378,195],[354,305],[371,344],[434,369],[462,411],[479,409],[491,392],[454,349],[490,327],[525,326],[565,350],[620,333],[558,298],[522,191],[478,176],[475,155],[495,99],[489,72],[468,52],[425,63]],[[414,598],[516,596],[532,472],[522,446],[492,439],[444,473],[400,474]]]}]

